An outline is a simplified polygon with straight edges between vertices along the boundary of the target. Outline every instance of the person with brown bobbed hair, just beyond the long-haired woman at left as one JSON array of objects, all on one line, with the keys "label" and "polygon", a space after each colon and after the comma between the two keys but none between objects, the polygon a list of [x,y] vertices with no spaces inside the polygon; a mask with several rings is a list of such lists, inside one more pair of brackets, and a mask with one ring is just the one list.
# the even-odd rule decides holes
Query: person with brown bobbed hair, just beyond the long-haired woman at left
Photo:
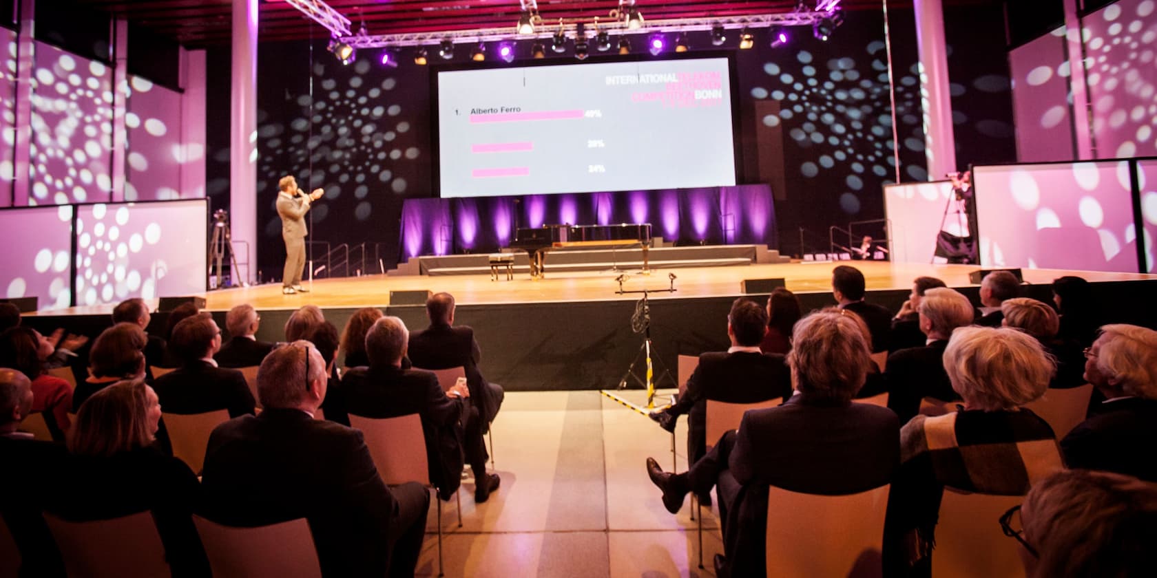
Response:
[{"label": "person with brown bobbed hair, just beyond the long-haired woman at left", "polygon": [[73,413],[89,395],[121,379],[145,377],[145,329],[133,323],[119,323],[101,332],[88,354],[88,379],[76,384]]}]

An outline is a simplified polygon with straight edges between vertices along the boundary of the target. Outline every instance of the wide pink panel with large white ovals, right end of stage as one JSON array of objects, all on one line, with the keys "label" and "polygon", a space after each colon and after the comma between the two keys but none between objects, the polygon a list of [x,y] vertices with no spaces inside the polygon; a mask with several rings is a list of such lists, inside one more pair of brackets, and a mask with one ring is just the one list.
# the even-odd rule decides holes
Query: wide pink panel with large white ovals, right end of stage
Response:
[{"label": "wide pink panel with large white ovals, right end of stage", "polygon": [[980,262],[1137,273],[1127,161],[977,166]]}]

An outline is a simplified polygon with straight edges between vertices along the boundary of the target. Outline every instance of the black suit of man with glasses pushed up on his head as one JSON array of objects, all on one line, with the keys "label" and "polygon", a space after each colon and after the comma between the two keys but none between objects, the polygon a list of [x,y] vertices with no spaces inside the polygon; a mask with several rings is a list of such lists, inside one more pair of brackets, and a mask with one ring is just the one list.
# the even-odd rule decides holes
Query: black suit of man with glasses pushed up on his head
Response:
[{"label": "black suit of man with glasses pushed up on his head", "polygon": [[397,503],[361,431],[297,409],[266,408],[213,430],[204,513],[261,526],[307,518],[325,576],[385,576]]}]

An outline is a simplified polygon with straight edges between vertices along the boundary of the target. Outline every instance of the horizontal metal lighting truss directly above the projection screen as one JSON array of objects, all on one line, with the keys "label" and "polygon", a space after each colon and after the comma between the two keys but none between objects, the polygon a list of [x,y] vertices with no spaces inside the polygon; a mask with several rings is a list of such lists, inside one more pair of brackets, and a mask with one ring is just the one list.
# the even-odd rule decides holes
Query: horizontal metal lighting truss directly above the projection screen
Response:
[{"label": "horizontal metal lighting truss directly above the projection screen", "polygon": [[[288,0],[300,1],[300,0]],[[837,2],[838,3],[838,2]],[[828,10],[796,10],[780,14],[754,14],[747,16],[722,16],[702,18],[669,18],[648,20],[642,28],[628,29],[626,22],[619,20],[614,22],[599,21],[599,30],[617,31],[619,35],[639,35],[654,32],[688,32],[694,30],[712,30],[714,27],[739,30],[746,28],[780,27],[810,27],[826,17],[831,17],[835,8]],[[348,21],[347,21],[348,22]],[[578,25],[585,21],[563,22],[561,29],[573,36],[577,32]],[[480,28],[474,30],[448,30],[444,32],[418,32],[418,34],[393,34],[393,35],[356,35],[339,38],[355,49],[379,49],[382,46],[421,46],[439,44],[449,39],[455,44],[476,44],[479,40],[509,40],[525,38],[550,39],[559,28],[551,27],[548,31],[538,31],[533,35],[517,35],[510,32],[510,27],[503,28]]]}]

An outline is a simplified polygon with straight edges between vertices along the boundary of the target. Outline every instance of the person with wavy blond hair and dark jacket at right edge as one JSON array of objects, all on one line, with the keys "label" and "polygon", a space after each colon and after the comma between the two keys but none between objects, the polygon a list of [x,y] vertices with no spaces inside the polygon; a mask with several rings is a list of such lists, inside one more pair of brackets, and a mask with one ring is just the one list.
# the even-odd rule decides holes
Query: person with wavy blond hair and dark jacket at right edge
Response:
[{"label": "person with wavy blond hair and dark jacket at right edge", "polygon": [[1066,462],[1157,482],[1157,332],[1106,325],[1085,356],[1084,377],[1105,401],[1061,440]]}]

